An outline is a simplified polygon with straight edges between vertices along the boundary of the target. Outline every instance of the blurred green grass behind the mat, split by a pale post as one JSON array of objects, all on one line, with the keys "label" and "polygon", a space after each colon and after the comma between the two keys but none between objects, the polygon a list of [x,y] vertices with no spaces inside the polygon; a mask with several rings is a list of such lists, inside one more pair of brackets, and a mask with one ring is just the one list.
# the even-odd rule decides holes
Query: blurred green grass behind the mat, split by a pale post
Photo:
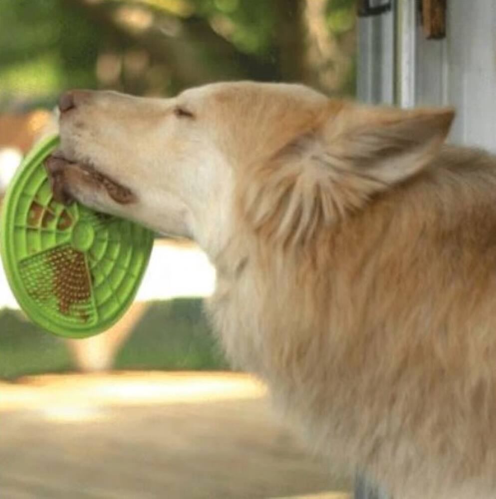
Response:
[{"label": "blurred green grass behind the mat, split by a pale post", "polygon": [[[114,363],[115,369],[227,367],[200,299],[152,303],[117,352]],[[18,312],[0,311],[0,378],[74,370],[63,339],[41,331]]]}]

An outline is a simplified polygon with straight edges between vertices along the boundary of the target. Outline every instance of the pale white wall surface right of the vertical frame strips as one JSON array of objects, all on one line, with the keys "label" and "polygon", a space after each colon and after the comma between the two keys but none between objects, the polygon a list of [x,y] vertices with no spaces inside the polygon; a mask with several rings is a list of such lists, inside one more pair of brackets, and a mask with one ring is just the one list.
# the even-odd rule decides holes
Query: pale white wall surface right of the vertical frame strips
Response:
[{"label": "pale white wall surface right of the vertical frame strips", "polygon": [[496,1],[450,0],[447,38],[419,28],[416,103],[457,110],[450,140],[496,152]]}]

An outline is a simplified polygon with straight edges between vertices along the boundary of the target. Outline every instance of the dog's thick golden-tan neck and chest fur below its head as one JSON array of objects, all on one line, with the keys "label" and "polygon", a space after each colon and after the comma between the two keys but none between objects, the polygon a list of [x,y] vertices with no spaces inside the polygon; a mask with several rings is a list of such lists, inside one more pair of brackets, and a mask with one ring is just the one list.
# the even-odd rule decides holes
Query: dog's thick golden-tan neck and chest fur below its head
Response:
[{"label": "dog's thick golden-tan neck and chest fur below its head", "polygon": [[425,182],[297,256],[232,253],[248,262],[219,272],[209,308],[318,452],[401,497],[478,497],[496,486],[496,179]]}]

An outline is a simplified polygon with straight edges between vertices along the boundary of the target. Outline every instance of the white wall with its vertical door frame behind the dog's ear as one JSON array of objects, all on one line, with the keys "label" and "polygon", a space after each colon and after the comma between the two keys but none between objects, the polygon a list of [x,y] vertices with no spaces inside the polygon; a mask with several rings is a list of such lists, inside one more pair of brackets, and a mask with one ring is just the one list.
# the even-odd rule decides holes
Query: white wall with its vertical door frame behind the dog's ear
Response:
[{"label": "white wall with its vertical door frame behind the dog's ear", "polygon": [[[380,54],[373,44],[359,44],[359,97],[371,102],[373,95],[395,89],[398,105],[451,105],[457,110],[450,141],[477,145],[496,152],[496,0],[448,0],[447,37],[425,38],[416,0],[396,0],[395,28],[385,20],[365,19],[362,39],[372,23],[385,30],[382,39],[396,39],[394,47]],[[412,15],[413,13],[413,15]],[[376,33],[376,37],[379,35]],[[359,38],[360,39],[360,38]],[[371,72],[383,66],[394,50],[395,72]],[[413,50],[413,54],[412,54]],[[367,78],[374,81],[367,87]],[[390,99],[375,99],[389,103]]]}]

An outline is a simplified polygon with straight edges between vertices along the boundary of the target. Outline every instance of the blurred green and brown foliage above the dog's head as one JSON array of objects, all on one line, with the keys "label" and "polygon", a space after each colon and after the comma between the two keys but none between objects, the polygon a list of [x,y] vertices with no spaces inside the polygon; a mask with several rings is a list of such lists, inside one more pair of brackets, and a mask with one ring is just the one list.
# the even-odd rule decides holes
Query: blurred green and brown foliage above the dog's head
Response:
[{"label": "blurred green and brown foliage above the dog's head", "polygon": [[[328,31],[313,42],[310,2]],[[1,0],[0,109],[50,106],[68,87],[164,95],[223,79],[353,93],[354,12],[354,0]],[[337,83],[319,78],[312,43],[345,53]]]}]

